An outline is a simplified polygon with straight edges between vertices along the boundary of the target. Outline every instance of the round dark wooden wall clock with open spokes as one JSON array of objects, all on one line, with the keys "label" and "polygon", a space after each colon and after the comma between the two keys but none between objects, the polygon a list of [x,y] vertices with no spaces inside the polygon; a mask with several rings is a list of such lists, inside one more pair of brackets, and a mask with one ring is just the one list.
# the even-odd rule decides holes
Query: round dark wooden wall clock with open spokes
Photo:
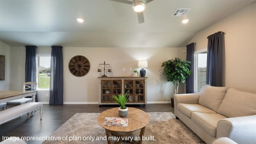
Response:
[{"label": "round dark wooden wall clock with open spokes", "polygon": [[74,76],[84,76],[90,70],[90,62],[84,56],[74,56],[68,63],[68,69]]}]

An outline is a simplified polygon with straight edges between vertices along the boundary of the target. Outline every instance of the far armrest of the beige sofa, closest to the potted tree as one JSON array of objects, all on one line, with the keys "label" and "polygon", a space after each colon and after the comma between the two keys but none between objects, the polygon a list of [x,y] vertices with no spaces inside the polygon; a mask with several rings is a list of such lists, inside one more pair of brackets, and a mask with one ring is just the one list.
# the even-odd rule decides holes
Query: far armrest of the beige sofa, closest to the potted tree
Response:
[{"label": "far armrest of the beige sofa, closest to the potted tree", "polygon": [[200,93],[191,94],[174,94],[174,113],[178,103],[184,104],[198,104]]}]

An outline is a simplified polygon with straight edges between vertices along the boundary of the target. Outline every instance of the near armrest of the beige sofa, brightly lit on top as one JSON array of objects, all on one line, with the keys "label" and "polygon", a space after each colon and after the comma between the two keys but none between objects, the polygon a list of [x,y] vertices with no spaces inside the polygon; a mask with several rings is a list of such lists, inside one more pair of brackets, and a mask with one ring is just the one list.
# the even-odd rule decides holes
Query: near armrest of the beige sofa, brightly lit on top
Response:
[{"label": "near armrest of the beige sofa, brightly lit on top", "polygon": [[238,144],[256,142],[256,115],[224,118],[217,124],[216,138],[228,137]]}]

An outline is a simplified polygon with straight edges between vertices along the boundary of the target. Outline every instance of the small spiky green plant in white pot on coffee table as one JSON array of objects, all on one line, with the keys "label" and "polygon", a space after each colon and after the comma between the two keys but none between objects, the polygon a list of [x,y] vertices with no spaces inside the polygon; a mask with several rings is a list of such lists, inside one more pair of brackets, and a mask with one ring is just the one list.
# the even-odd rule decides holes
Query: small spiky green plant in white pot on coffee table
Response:
[{"label": "small spiky green plant in white pot on coffee table", "polygon": [[120,117],[126,117],[128,115],[128,108],[125,106],[125,104],[129,99],[127,92],[126,92],[126,94],[118,94],[118,96],[113,95],[112,98],[120,106],[118,108],[119,116]]}]

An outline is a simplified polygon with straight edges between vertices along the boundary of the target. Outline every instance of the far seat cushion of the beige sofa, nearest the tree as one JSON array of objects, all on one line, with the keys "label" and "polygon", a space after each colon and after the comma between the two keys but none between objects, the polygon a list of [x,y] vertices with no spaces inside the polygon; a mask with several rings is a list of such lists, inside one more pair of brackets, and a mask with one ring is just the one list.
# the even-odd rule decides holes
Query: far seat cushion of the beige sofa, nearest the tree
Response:
[{"label": "far seat cushion of the beige sofa, nearest the tree", "polygon": [[191,118],[192,112],[204,112],[204,113],[216,113],[213,110],[206,108],[205,106],[201,106],[200,104],[177,104],[177,110]]}]

